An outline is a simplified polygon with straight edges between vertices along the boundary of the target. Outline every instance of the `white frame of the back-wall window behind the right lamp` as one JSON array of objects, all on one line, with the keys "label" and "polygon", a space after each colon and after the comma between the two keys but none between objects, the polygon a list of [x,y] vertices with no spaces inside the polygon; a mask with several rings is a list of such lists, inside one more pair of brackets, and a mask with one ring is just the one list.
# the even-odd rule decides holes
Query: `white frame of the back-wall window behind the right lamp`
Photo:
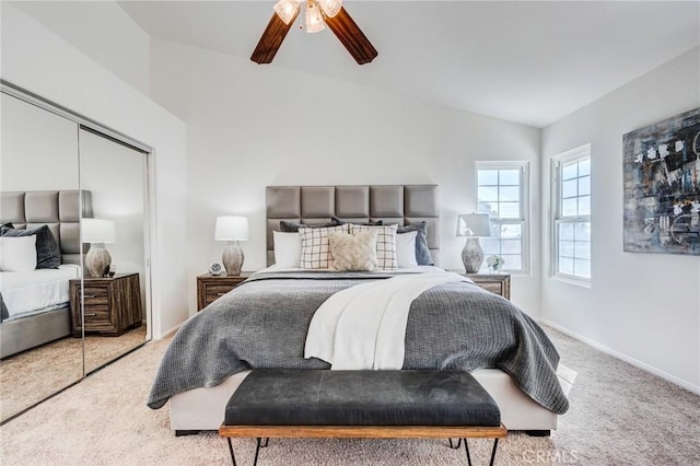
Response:
[{"label": "white frame of the back-wall window behind the right lamp", "polygon": [[[506,219],[493,219],[489,218],[489,222],[491,224],[520,224],[521,225],[521,256],[522,263],[520,269],[512,269],[508,267],[508,263],[502,271],[511,273],[513,276],[523,276],[529,277],[532,273],[530,268],[530,211],[532,206],[529,202],[529,161],[524,160],[515,160],[515,161],[477,161],[475,163],[475,199],[476,199],[476,211],[479,211],[479,170],[517,170],[520,172],[520,208],[521,215],[520,218],[506,218]],[[500,186],[500,185],[499,185]],[[486,264],[486,261],[485,261]],[[483,267],[481,266],[480,273],[483,272]]]}]

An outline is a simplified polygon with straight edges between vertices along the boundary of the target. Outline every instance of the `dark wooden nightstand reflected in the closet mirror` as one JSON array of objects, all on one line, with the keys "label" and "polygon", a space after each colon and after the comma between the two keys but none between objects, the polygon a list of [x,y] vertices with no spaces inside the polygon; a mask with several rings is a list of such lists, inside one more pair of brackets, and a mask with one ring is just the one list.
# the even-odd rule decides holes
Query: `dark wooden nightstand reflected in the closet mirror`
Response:
[{"label": "dark wooden nightstand reflected in the closet mirror", "polygon": [[[85,331],[104,336],[119,336],[142,321],[141,287],[138,273],[117,273],[110,278],[89,278],[84,282],[82,300],[85,305]],[[81,280],[70,283],[70,316],[73,337],[82,335],[80,317]]]}]

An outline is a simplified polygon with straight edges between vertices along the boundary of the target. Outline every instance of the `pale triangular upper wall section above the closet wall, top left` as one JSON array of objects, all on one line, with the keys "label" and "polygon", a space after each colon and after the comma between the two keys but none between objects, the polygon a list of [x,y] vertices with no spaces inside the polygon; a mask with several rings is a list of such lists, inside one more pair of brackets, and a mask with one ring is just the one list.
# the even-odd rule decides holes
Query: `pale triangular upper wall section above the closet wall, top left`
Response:
[{"label": "pale triangular upper wall section above the closet wall, top left", "polygon": [[149,95],[151,36],[116,1],[16,1],[13,5]]}]

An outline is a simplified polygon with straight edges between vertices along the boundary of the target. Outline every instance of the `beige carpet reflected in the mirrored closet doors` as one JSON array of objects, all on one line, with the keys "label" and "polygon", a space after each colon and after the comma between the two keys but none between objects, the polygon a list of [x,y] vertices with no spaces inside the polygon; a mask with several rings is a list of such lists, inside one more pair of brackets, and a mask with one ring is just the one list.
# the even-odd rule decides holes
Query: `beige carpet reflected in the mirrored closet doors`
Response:
[{"label": "beige carpet reflected in the mirrored closet doors", "polygon": [[[91,372],[145,340],[145,326],[118,337],[85,336],[85,371]],[[47,398],[83,376],[82,341],[67,337],[0,361],[0,420]]]}]

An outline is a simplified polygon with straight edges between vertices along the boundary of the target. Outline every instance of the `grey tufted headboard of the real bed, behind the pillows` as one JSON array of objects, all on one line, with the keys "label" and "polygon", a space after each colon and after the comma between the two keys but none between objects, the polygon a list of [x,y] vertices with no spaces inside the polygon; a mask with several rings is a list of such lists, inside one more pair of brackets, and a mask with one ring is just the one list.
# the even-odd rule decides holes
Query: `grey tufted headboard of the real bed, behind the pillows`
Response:
[{"label": "grey tufted headboard of the real bed, behind the pillows", "polygon": [[428,247],[438,264],[440,209],[436,185],[268,186],[267,264],[275,264],[272,231],[280,220],[326,223],[335,215],[345,221],[382,220],[399,225],[428,222]]}]

